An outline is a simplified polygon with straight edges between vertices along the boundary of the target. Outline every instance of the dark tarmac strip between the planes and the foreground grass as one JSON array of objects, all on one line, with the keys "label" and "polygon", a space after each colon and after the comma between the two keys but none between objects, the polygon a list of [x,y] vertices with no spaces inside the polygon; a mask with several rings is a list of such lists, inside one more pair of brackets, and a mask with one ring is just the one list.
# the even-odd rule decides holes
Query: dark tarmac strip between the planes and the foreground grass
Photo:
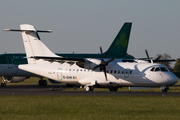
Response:
[{"label": "dark tarmac strip between the planes and the foreground grass", "polygon": [[[72,91],[63,91],[72,88]],[[180,96],[179,92],[129,92],[129,91],[76,91],[66,85],[8,85],[0,87],[0,95],[58,95],[58,96]]]}]

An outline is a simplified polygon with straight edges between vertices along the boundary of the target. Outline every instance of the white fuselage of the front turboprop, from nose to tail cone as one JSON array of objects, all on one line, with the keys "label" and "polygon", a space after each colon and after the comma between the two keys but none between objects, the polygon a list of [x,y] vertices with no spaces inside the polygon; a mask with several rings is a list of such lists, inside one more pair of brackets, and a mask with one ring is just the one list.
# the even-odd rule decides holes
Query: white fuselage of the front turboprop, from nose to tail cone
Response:
[{"label": "white fuselage of the front turboprop, from nose to tail cone", "polygon": [[[152,71],[152,69],[159,69]],[[162,64],[150,63],[122,63],[107,67],[106,81],[104,72],[99,69],[93,71],[84,69],[76,64],[59,64],[57,62],[44,64],[20,65],[20,69],[34,74],[48,77],[52,80],[67,84],[110,86],[169,86],[178,78]]]}]

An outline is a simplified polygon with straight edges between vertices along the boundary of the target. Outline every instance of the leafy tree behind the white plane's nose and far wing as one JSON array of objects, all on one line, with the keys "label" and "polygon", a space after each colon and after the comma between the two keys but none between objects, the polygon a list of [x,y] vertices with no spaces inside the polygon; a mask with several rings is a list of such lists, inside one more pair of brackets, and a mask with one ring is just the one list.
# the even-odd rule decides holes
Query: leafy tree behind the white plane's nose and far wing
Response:
[{"label": "leafy tree behind the white plane's nose and far wing", "polygon": [[[158,57],[161,56],[161,57],[159,58],[159,59],[161,59],[161,60],[167,60],[167,59],[170,59],[170,58],[171,58],[171,56],[168,55],[168,54],[166,54],[166,53],[164,53],[164,54],[157,54],[157,56],[158,56]],[[172,69],[172,67],[171,67],[171,62],[159,62],[159,63],[165,65],[170,71],[173,71],[173,69]]]}]

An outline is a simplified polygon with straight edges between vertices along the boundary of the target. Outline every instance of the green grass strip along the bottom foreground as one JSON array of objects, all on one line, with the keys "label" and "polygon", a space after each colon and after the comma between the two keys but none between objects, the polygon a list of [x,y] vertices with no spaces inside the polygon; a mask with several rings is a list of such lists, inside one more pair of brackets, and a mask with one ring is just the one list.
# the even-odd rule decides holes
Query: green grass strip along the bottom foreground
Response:
[{"label": "green grass strip along the bottom foreground", "polygon": [[180,97],[0,96],[1,120],[179,120]]}]

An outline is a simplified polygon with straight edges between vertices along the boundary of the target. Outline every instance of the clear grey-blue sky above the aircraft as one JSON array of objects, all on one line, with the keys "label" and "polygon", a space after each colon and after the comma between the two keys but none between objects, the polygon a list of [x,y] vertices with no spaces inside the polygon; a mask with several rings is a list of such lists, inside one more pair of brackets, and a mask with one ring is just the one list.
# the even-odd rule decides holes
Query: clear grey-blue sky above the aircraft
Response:
[{"label": "clear grey-blue sky above the aircraft", "polygon": [[[125,22],[132,22],[128,53],[136,58],[180,58],[179,0],[3,0],[0,29],[31,24],[55,53],[105,52]],[[18,32],[0,31],[0,54],[25,53]]]}]

